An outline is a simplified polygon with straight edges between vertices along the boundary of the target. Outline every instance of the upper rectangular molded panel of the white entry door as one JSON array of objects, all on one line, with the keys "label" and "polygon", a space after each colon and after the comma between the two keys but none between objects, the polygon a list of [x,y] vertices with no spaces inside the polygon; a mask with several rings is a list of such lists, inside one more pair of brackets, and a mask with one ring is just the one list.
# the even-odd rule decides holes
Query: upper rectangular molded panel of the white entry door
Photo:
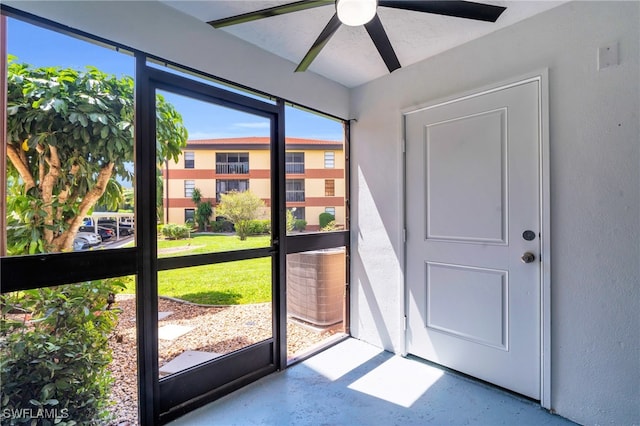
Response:
[{"label": "upper rectangular molded panel of the white entry door", "polygon": [[[508,140],[506,134],[507,126],[506,108],[483,111],[477,114],[457,117],[453,120],[440,121],[429,124],[425,128],[425,158],[424,170],[426,173],[425,199],[427,200],[426,210],[426,239],[440,241],[461,241],[475,242],[479,244],[508,244],[508,174],[507,174],[507,150]],[[493,146],[480,144],[468,144],[466,139],[472,138],[473,134],[485,124],[491,125],[491,130],[496,133],[495,139],[498,141]],[[451,138],[455,138],[454,141]],[[459,145],[457,148],[465,150],[466,156],[463,161],[451,155],[451,145]],[[490,151],[498,151],[495,154],[494,170],[487,173],[486,170],[478,168],[477,158],[486,155]],[[468,176],[464,186],[451,187],[448,185],[449,177],[456,171],[464,170]],[[495,180],[496,184],[487,180]],[[492,211],[481,212],[477,206],[477,198],[487,197],[487,188],[496,188],[490,194],[494,198],[497,208]],[[452,218],[451,212],[445,210],[435,211],[434,205],[447,207],[447,203],[440,203],[439,200],[447,198],[451,200],[455,194],[453,202],[461,206],[466,213],[462,217]],[[466,206],[466,208],[462,206]],[[496,213],[499,212],[499,215]],[[483,213],[483,214],[480,214]],[[453,229],[447,228],[446,224],[453,223]],[[488,235],[478,235],[477,231],[485,227],[491,228],[492,233]],[[475,234],[475,235],[474,235]]]}]

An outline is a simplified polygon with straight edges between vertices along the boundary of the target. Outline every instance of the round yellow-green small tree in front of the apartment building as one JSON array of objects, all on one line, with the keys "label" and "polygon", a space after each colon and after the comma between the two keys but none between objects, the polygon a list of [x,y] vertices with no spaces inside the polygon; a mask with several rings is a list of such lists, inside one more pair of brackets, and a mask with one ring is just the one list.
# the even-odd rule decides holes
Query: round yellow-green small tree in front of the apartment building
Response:
[{"label": "round yellow-green small tree in front of the apartment building", "polygon": [[226,217],[236,228],[236,234],[241,240],[249,235],[251,221],[257,219],[264,202],[251,191],[231,191],[222,194],[220,204],[216,207],[216,214]]}]

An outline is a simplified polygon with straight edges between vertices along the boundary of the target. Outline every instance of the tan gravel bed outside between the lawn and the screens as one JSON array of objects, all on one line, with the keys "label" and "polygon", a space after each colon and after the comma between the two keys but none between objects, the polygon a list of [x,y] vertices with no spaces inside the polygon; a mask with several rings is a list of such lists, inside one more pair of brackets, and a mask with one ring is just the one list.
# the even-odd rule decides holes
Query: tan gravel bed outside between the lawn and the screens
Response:
[{"label": "tan gravel bed outside between the lawn and the screens", "polygon": [[[138,424],[135,298],[118,295],[121,309],[110,347],[111,371],[115,379],[111,392],[113,425]],[[159,340],[159,365],[163,366],[187,350],[226,354],[271,337],[271,304],[199,306],[160,299],[158,310],[172,312],[159,326],[181,325],[193,329],[175,340]],[[289,319],[287,353],[289,358],[341,331],[341,324],[315,329]]]}]

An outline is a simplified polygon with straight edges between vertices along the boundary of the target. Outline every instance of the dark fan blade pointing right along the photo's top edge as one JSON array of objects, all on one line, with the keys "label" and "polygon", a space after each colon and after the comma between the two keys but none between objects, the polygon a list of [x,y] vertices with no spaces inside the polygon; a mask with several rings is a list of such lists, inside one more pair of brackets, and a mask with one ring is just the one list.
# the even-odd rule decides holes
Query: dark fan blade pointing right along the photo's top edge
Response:
[{"label": "dark fan blade pointing right along the photo's top edge", "polygon": [[506,7],[470,1],[380,0],[378,6],[496,22]]}]

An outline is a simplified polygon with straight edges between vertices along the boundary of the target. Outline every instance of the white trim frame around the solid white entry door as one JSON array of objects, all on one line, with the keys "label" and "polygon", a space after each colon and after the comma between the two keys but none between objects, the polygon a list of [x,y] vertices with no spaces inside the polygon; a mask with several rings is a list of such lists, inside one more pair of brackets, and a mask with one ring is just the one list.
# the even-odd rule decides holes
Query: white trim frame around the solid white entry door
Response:
[{"label": "white trim frame around the solid white entry door", "polygon": [[407,312],[409,303],[409,291],[407,283],[407,176],[406,166],[406,134],[407,116],[421,110],[436,108],[454,102],[486,95],[510,87],[535,82],[538,85],[538,117],[539,117],[539,199],[540,199],[540,405],[551,409],[551,209],[550,209],[550,180],[549,180],[549,70],[548,68],[531,72],[502,82],[483,86],[479,89],[462,93],[454,93],[437,100],[421,103],[403,108],[402,114],[402,233],[403,233],[403,262],[402,274],[404,282],[403,305],[401,307],[401,320],[404,324],[404,333],[401,338],[402,356],[407,355]]}]

